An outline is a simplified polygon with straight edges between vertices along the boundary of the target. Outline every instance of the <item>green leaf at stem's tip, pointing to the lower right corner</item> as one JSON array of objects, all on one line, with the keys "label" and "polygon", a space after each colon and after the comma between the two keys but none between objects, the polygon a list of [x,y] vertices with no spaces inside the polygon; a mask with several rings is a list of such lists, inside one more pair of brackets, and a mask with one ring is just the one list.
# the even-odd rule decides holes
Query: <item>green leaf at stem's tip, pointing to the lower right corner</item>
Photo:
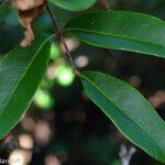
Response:
[{"label": "green leaf at stem's tip, pointing to the lower right corner", "polygon": [[81,76],[89,98],[132,143],[165,163],[165,122],[133,87],[98,73]]}]

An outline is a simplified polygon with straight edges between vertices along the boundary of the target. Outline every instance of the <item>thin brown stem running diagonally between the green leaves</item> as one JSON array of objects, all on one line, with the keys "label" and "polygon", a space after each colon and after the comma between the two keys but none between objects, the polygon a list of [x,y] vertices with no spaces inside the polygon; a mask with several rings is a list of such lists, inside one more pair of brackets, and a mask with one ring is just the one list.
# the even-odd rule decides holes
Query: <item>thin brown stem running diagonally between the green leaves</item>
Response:
[{"label": "thin brown stem running diagonally between the green leaves", "polygon": [[[63,46],[64,46],[64,48],[65,48],[66,55],[67,55],[67,57],[68,57],[68,59],[69,59],[69,62],[70,62],[70,65],[72,65],[73,72],[75,73],[76,76],[79,77],[79,76],[80,76],[80,73],[79,73],[79,70],[75,67],[75,64],[74,64],[74,61],[73,61],[70,51],[69,51],[69,48],[68,48],[68,46],[67,46],[67,43],[65,42],[63,31],[62,31],[62,29],[59,28],[59,25],[57,24],[57,22],[56,22],[56,20],[55,20],[55,18],[54,18],[54,15],[53,15],[53,13],[52,13],[52,11],[51,11],[51,9],[50,9],[50,7],[48,7],[47,3],[45,4],[45,7],[46,7],[46,10],[47,10],[47,12],[48,12],[48,15],[50,15],[50,18],[51,18],[51,20],[52,20],[52,22],[53,22],[53,25],[54,25],[54,29],[55,29],[55,33],[59,36],[61,42],[62,42],[62,44],[63,44]],[[56,30],[57,30],[57,32],[56,32]]]}]

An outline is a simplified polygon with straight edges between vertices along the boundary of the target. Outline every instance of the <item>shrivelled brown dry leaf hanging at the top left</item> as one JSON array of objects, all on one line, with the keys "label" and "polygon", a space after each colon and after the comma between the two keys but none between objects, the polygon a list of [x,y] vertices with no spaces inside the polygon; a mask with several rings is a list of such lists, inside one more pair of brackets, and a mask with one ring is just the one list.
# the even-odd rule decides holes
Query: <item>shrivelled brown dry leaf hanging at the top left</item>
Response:
[{"label": "shrivelled brown dry leaf hanging at the top left", "polygon": [[12,3],[19,12],[19,21],[24,28],[24,38],[20,45],[26,47],[35,37],[32,22],[42,12],[46,0],[12,0]]}]

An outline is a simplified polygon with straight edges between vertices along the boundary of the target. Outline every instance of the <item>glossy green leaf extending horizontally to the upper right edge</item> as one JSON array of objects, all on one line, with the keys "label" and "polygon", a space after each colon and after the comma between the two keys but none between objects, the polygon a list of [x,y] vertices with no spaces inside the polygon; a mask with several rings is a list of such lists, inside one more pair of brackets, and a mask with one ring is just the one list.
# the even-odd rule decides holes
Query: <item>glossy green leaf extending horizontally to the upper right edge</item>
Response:
[{"label": "glossy green leaf extending horizontally to the upper right edge", "polygon": [[165,22],[147,14],[91,12],[70,20],[65,30],[95,46],[165,58]]}]

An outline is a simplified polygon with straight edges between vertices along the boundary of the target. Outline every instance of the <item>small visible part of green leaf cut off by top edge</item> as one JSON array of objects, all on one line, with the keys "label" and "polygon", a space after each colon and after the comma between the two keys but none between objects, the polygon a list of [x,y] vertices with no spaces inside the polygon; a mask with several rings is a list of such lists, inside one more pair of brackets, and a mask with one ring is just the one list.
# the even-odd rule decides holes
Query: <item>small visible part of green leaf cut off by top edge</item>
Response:
[{"label": "small visible part of green leaf cut off by top edge", "polygon": [[55,6],[70,10],[81,11],[90,8],[97,0],[50,0]]}]

